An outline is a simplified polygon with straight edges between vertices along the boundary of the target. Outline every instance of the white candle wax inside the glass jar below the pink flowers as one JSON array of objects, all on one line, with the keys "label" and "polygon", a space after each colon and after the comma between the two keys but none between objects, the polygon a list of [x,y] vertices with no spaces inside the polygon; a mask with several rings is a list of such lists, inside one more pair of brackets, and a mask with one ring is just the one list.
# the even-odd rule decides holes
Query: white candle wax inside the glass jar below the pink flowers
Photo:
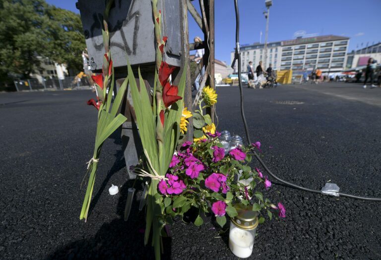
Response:
[{"label": "white candle wax inside the glass jar below the pink flowers", "polygon": [[248,258],[253,253],[254,235],[247,230],[231,227],[229,248],[239,258]]}]

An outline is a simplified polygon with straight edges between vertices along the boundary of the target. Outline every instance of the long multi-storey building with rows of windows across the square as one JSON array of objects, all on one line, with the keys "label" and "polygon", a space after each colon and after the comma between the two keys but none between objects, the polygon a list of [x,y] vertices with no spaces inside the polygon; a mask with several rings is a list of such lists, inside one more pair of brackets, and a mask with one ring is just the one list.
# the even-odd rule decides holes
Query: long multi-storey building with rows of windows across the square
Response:
[{"label": "long multi-storey building with rows of windows across the square", "polygon": [[[267,44],[266,64],[274,69],[312,70],[317,67],[323,72],[342,71],[346,65],[346,53],[349,38],[335,35],[302,38]],[[254,67],[263,60],[264,44],[254,43],[241,47],[242,71],[247,72],[247,65],[252,61]],[[231,53],[233,62],[234,51]],[[237,72],[238,67],[234,68]]]}]

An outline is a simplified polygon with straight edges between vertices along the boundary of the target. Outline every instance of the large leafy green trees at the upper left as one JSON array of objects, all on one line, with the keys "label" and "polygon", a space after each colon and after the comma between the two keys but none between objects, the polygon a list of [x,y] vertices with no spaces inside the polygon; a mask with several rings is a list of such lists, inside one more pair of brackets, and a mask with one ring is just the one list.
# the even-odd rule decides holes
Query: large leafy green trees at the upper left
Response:
[{"label": "large leafy green trees at the upper left", "polygon": [[86,48],[80,16],[45,0],[0,0],[0,84],[28,78],[37,56],[82,70]]}]

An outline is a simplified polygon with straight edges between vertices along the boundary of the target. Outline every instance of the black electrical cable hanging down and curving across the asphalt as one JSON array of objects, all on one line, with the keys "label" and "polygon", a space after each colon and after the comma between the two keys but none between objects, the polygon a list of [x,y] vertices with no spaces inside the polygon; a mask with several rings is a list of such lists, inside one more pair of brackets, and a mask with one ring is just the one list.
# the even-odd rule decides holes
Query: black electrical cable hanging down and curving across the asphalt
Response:
[{"label": "black electrical cable hanging down and curving across the asphalt", "polygon": [[[245,127],[245,132],[246,132],[246,138],[248,140],[248,144],[251,144],[251,139],[249,135],[249,128],[248,124],[246,122],[245,118],[245,112],[244,112],[244,94],[243,94],[243,89],[242,89],[242,80],[241,80],[241,50],[240,50],[240,13],[238,10],[238,0],[234,0],[234,7],[236,10],[236,52],[234,54],[234,61],[232,63],[232,68],[234,68],[234,65],[236,61],[238,61],[238,84],[240,87],[240,94],[241,94],[241,116],[242,116],[242,121],[244,122],[244,127]],[[271,175],[274,179],[277,181],[286,184],[289,187],[299,189],[302,191],[306,192],[311,192],[311,193],[318,193],[321,194],[321,191],[318,190],[312,190],[308,188],[301,187],[296,184],[289,183],[287,181],[284,181],[277,177],[275,174],[273,174],[266,166],[266,164],[260,159],[259,155],[254,151],[254,156],[255,158],[259,161],[259,163],[262,165],[262,167],[265,169],[265,171]],[[343,196],[343,197],[350,197],[350,198],[357,198],[357,199],[363,199],[363,200],[370,200],[370,201],[381,201],[381,198],[373,198],[373,197],[361,197],[361,196],[355,196],[355,195],[349,195],[345,193],[337,193],[337,195]]]}]

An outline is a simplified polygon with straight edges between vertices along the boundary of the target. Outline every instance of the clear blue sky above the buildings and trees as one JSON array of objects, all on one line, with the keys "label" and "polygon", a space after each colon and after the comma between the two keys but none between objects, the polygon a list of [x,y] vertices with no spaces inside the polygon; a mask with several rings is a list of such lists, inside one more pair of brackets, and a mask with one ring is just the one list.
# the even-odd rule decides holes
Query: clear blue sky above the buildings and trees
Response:
[{"label": "clear blue sky above the buildings and trees", "polygon": [[[77,0],[47,0],[57,7],[79,13]],[[198,1],[192,1],[198,5]],[[264,0],[239,0],[240,43],[264,42]],[[197,8],[199,9],[199,8]],[[268,41],[293,39],[296,31],[307,34],[333,34],[350,37],[349,50],[363,43],[381,41],[381,0],[273,0],[270,8]],[[190,38],[201,36],[201,30],[189,15]],[[235,47],[235,13],[233,0],[215,0],[215,58],[230,63]]]}]

